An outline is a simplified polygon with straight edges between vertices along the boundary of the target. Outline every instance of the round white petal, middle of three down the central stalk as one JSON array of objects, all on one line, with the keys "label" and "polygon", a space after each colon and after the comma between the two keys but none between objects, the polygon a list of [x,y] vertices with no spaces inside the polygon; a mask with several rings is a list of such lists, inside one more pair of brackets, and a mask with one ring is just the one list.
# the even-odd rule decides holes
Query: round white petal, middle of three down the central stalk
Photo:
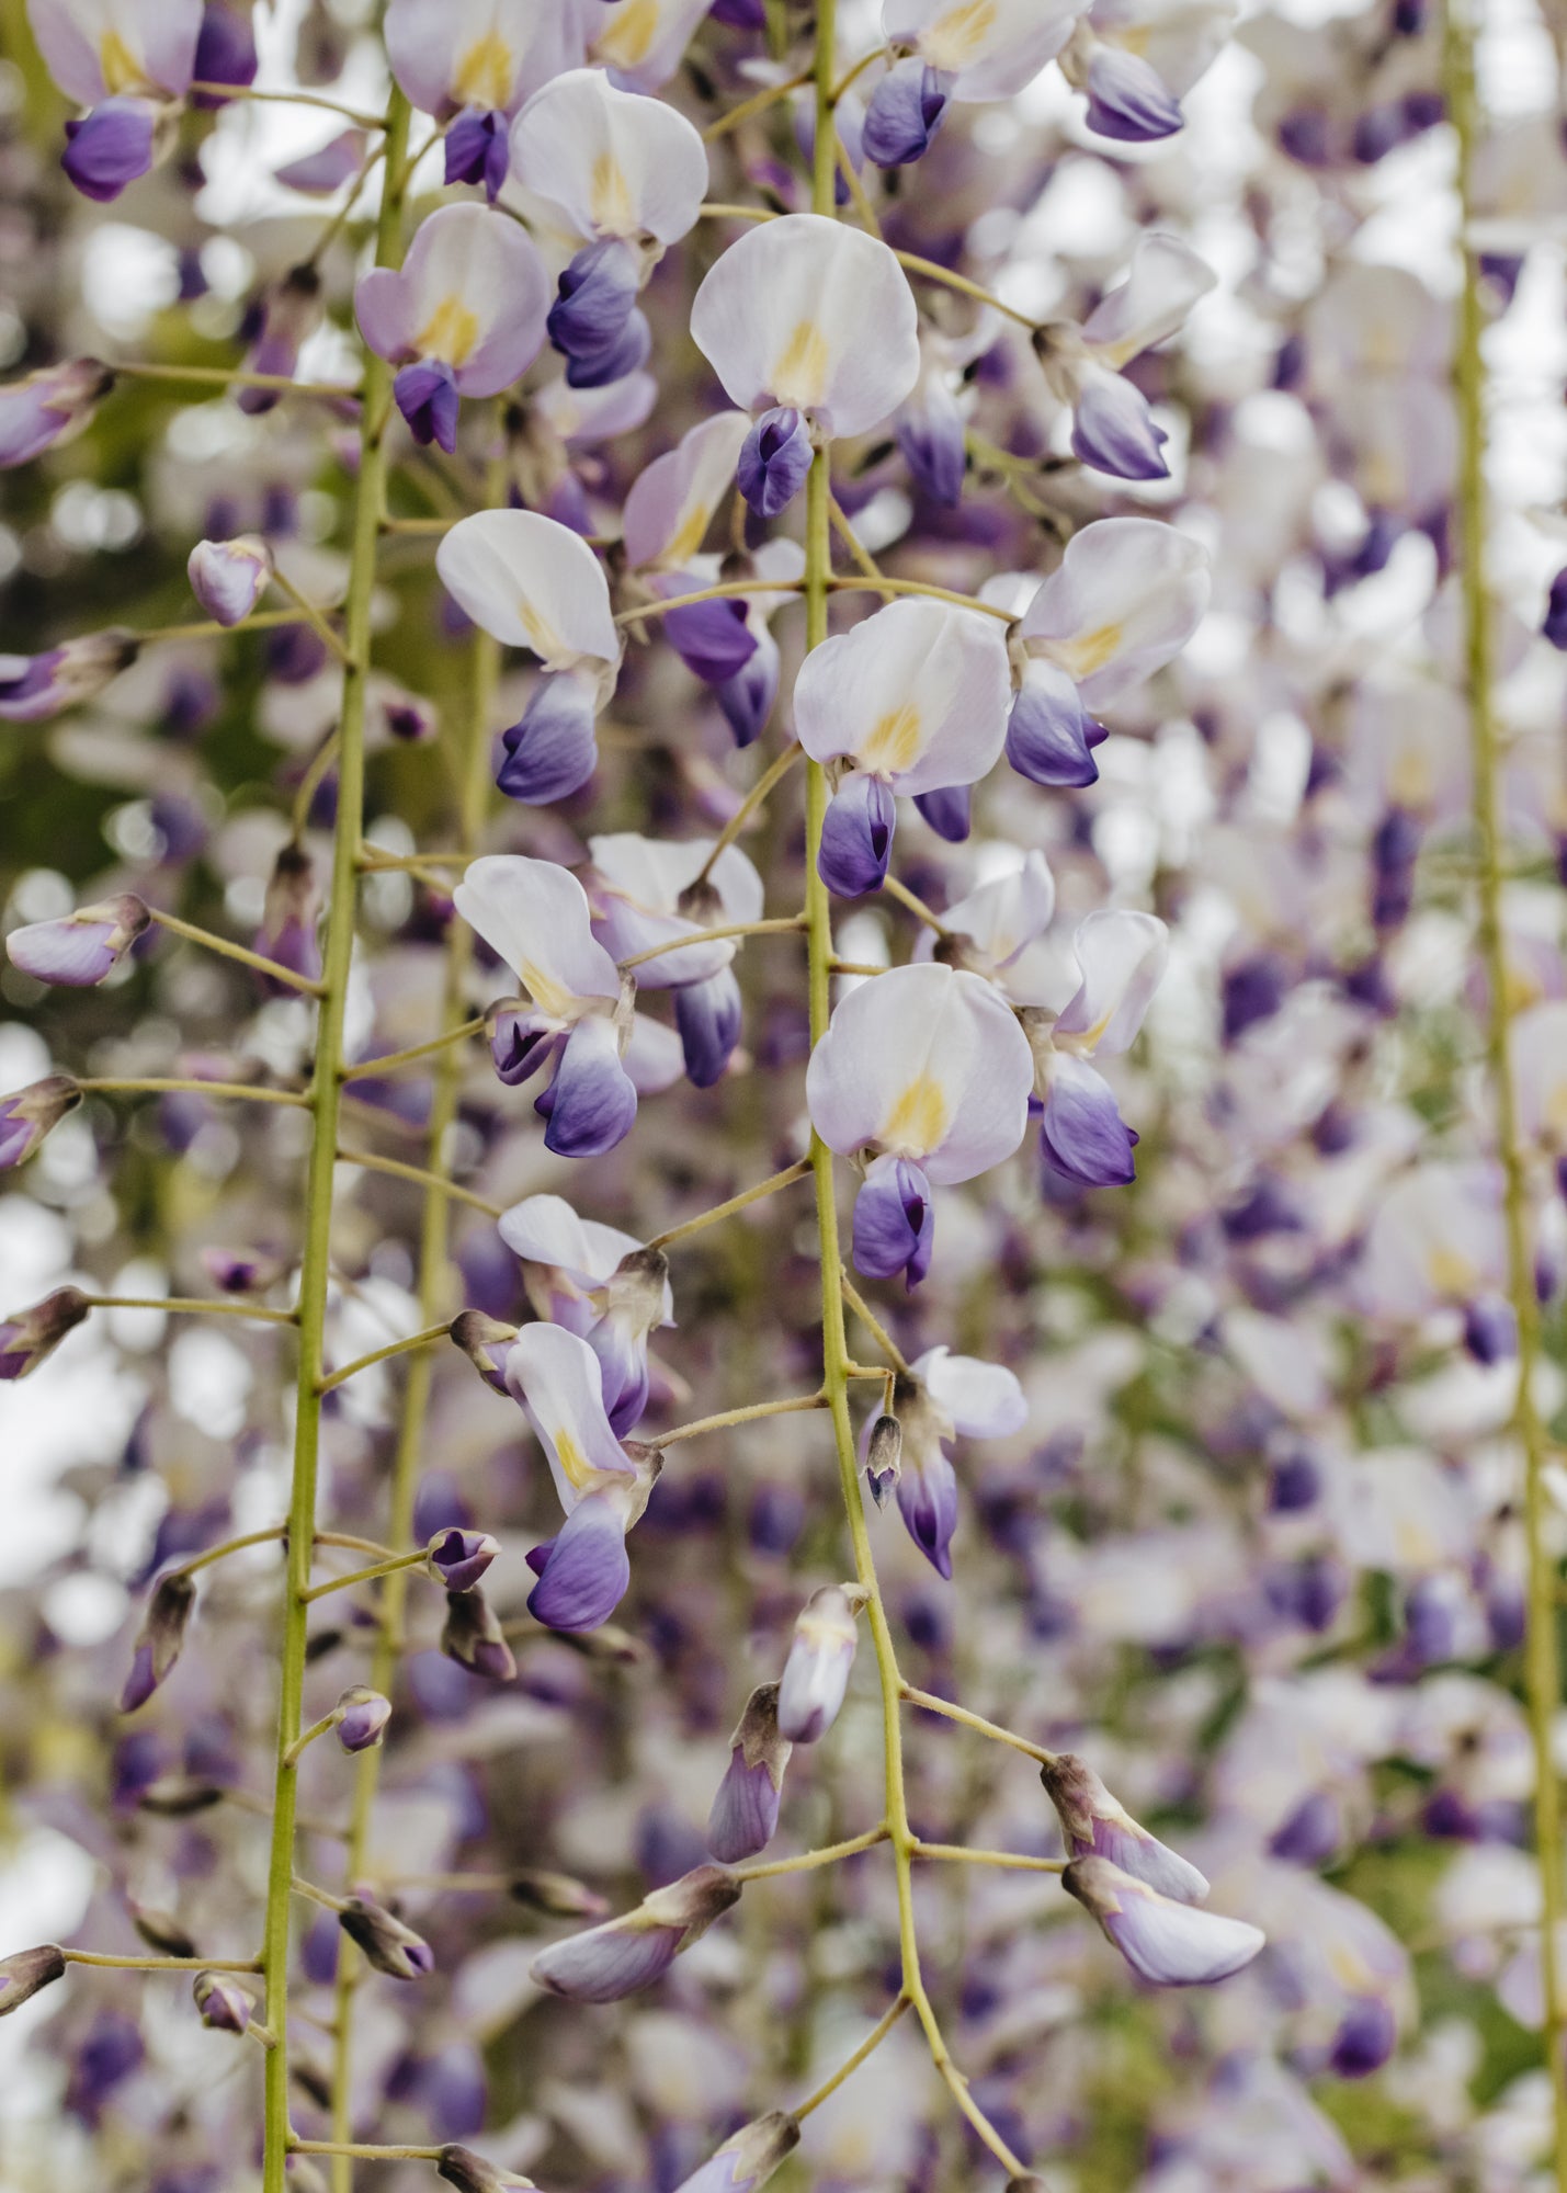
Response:
[{"label": "round white petal, middle of three down the central stalk", "polygon": [[794,680],[794,730],[812,761],[847,754],[895,792],[937,792],[988,774],[1010,704],[999,618],[893,601],[812,647]]}]

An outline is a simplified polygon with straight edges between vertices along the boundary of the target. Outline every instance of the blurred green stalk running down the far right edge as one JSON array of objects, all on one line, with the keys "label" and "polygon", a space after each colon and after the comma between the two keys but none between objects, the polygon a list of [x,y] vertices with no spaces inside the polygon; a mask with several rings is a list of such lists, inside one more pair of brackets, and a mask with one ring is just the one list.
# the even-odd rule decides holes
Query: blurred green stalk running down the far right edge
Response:
[{"label": "blurred green stalk running down the far right edge", "polygon": [[1549,1550],[1549,1500],[1545,1467],[1549,1445],[1534,1395],[1541,1362],[1541,1311],[1534,1292],[1534,1248],[1530,1241],[1530,1180],[1519,1096],[1512,1077],[1508,954],[1501,928],[1503,818],[1501,752],[1492,711],[1490,594],[1486,586],[1486,360],[1481,349],[1481,270],[1468,243],[1473,219],[1475,140],[1479,105],[1475,92],[1475,24],[1466,0],[1446,0],[1442,37],[1442,90],[1457,138],[1459,239],[1464,289],[1457,307],[1455,393],[1459,428],[1457,515],[1464,588],[1464,654],[1475,779],[1475,829],[1479,833],[1479,954],[1486,967],[1490,1024],[1486,1039],[1488,1079],[1497,1112],[1497,1151],[1503,1173],[1503,1219],[1508,1235],[1508,1294],[1519,1320],[1519,1397],[1512,1434],[1523,1450],[1523,1529],[1527,1539],[1530,1625],[1525,1636],[1525,1689],[1534,1741],[1534,1849],[1541,1868],[1541,1982],[1545,1991],[1545,2068],[1552,2083],[1554,2180],[1567,2193],[1567,2061],[1563,2042],[1560,1925],[1563,1840],[1560,1787],[1556,1779],[1554,1724],[1560,1711],[1560,1664],[1556,1651],[1558,1564]]}]

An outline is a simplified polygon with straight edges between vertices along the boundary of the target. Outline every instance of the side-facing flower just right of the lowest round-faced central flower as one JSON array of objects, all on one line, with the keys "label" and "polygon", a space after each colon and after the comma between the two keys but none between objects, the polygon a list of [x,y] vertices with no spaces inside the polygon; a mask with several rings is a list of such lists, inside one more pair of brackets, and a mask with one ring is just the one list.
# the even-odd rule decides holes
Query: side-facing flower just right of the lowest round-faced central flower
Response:
[{"label": "side-facing flower just right of the lowest round-faced central flower", "polygon": [[1040,1154],[1084,1189],[1126,1186],[1137,1178],[1137,1134],[1091,1057],[1130,1050],[1170,958],[1170,932],[1157,914],[1104,906],[1073,934],[1082,980],[1051,1022],[1040,1007],[1023,1013],[1036,1059]]}]

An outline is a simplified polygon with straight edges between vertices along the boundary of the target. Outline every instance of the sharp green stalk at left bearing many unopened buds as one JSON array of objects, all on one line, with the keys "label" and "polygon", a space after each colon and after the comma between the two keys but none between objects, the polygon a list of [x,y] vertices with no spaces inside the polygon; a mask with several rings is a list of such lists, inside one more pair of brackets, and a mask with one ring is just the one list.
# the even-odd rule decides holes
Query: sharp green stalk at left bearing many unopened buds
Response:
[{"label": "sharp green stalk at left bearing many unopened buds", "polygon": [[[402,200],[406,186],[408,101],[393,90],[386,112],[386,191],[375,232],[375,263],[402,257]],[[290,1746],[301,1732],[305,1697],[307,1590],[316,1533],[316,1472],[320,1458],[320,1377],[325,1355],[327,1289],[331,1279],[331,1184],[338,1162],[338,1107],[342,1020],[353,956],[356,857],[364,807],[364,684],[371,667],[371,594],[375,588],[375,522],[386,491],[386,419],[391,371],[380,357],[364,362],[360,421],[360,478],[353,507],[353,550],[345,634],[349,664],[342,678],[338,757],[338,822],[331,844],[331,904],[323,950],[323,996],[316,1031],[318,1070],[312,1086],[312,1145],[305,1182],[305,1254],[298,1285],[298,1406],[294,1421],[294,1482],[290,1493],[288,1597],[283,1612],[283,1673],[272,1794],[272,1855],[266,1899],[266,2022],[277,2048],[266,2057],[263,2193],[285,2193],[288,2123],[288,1950],[294,1882],[294,1814],[298,1768]]]}]

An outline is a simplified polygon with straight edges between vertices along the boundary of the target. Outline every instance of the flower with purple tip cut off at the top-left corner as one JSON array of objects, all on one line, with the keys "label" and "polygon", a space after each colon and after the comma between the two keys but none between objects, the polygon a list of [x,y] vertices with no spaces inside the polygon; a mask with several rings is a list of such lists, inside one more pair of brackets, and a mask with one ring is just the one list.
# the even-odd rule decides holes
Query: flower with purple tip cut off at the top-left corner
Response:
[{"label": "flower with purple tip cut off at the top-left corner", "polygon": [[99,204],[171,145],[195,77],[202,0],[29,0],[55,83],[88,112],[66,123],[61,167]]}]

